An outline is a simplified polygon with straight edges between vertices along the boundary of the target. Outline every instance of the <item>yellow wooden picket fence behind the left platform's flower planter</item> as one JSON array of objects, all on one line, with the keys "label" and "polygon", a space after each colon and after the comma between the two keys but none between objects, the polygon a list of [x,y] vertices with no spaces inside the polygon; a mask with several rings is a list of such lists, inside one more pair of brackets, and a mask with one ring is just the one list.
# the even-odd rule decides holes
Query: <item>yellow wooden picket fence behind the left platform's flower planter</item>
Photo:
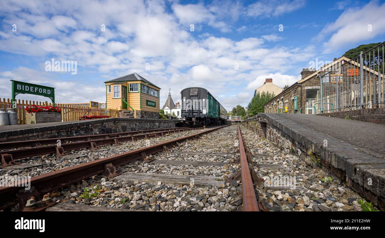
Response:
[{"label": "yellow wooden picket fence behind the left platform's flower planter", "polygon": [[[52,106],[51,103],[47,102],[35,102],[35,101],[28,101],[28,100],[16,100],[17,106],[16,106],[16,113],[17,113],[17,119],[19,124],[25,124],[26,122],[26,114],[25,108],[32,105],[37,106]],[[87,115],[88,110],[91,109],[91,111],[88,113],[87,116],[110,116],[110,117],[118,117],[118,110],[115,109],[105,109],[105,108],[90,108],[90,107],[83,107],[83,106],[77,106],[77,105],[71,105],[71,104],[61,104],[61,103],[55,103],[56,107],[59,107],[62,109],[62,121],[77,121],[79,120],[79,117]],[[11,99],[0,98],[0,108],[12,108]],[[107,113],[105,113],[107,111]]]}]

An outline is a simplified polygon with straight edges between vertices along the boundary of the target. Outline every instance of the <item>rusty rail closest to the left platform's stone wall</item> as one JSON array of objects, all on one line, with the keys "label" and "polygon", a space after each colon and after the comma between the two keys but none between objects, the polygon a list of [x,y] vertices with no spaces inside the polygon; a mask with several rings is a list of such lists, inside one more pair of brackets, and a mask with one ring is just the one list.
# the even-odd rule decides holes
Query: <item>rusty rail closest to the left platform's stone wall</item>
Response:
[{"label": "rusty rail closest to the left platform's stone wall", "polygon": [[42,145],[54,145],[57,143],[57,140],[61,140],[61,143],[67,143],[70,141],[75,142],[75,141],[84,141],[84,140],[97,140],[97,139],[104,139],[104,138],[114,138],[114,137],[134,135],[138,133],[172,131],[172,130],[181,130],[181,129],[188,129],[188,128],[189,127],[176,127],[176,128],[163,128],[163,129],[152,129],[152,130],[141,130],[141,131],[126,131],[126,132],[98,134],[98,135],[69,136],[69,137],[39,139],[39,140],[2,142],[0,143],[0,150],[23,148],[23,147],[34,147],[34,146],[42,146]]}]

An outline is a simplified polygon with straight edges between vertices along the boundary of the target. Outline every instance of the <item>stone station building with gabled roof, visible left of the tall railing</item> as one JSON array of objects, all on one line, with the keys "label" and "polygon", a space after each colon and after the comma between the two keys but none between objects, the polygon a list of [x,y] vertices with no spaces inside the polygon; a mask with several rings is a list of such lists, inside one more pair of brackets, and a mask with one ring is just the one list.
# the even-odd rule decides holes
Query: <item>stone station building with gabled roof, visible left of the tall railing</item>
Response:
[{"label": "stone station building with gabled roof, visible left of the tall railing", "polygon": [[[312,113],[311,108],[305,108],[306,103],[311,107],[314,101],[320,98],[320,78],[318,73],[321,70],[330,71],[338,64],[348,62],[350,59],[345,56],[335,59],[320,70],[304,68],[301,72],[301,80],[293,85],[285,86],[285,89],[264,105],[266,113]],[[287,111],[286,111],[287,110]]]}]

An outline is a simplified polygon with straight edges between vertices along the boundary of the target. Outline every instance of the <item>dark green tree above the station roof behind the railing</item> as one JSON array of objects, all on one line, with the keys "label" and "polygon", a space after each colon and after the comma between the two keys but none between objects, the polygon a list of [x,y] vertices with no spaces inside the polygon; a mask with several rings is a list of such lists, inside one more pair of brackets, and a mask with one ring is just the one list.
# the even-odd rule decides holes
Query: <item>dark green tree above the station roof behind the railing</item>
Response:
[{"label": "dark green tree above the station roof behind the railing", "polygon": [[[381,44],[382,42],[379,42],[379,43],[370,43],[370,44],[366,44],[366,45],[359,45],[358,47],[356,48],[353,48],[353,49],[350,49],[348,51],[345,52],[345,54],[343,54],[343,56],[351,59],[351,60],[354,60],[355,62],[359,62],[359,58],[355,58],[355,57],[358,57],[360,55],[361,52],[365,52],[367,50],[370,50],[371,48],[375,47],[376,45],[379,45]],[[370,58],[369,58],[369,52],[368,53],[365,53],[363,55],[363,60],[364,60],[364,64],[366,67],[370,67],[371,69],[375,70],[378,72],[378,67],[380,67],[380,73],[383,73],[382,72],[382,65],[383,65],[383,58],[384,58],[384,55],[383,55],[383,47],[380,47],[379,48],[379,53],[378,54],[378,49],[375,48],[374,49],[374,55],[373,55],[373,50],[370,51]],[[366,57],[366,60],[365,60],[365,57]]]}]

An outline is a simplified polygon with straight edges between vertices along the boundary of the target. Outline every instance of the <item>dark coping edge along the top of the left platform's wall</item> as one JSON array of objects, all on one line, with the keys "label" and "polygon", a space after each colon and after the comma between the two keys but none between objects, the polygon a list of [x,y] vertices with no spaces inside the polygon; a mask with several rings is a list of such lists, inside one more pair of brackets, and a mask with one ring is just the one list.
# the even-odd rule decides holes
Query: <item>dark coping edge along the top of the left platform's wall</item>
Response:
[{"label": "dark coping edge along the top of the left platform's wall", "polygon": [[[66,128],[74,128],[79,126],[88,126],[93,124],[108,123],[108,122],[130,122],[130,123],[143,123],[143,122],[161,122],[161,123],[177,123],[179,120],[165,120],[165,119],[146,119],[146,118],[103,118],[103,119],[94,119],[94,120],[82,120],[82,121],[65,121],[58,125],[39,125],[36,124],[36,127],[33,128],[22,128],[15,130],[8,130],[0,132],[0,137],[9,137],[9,136],[18,136],[32,133],[41,133],[45,131],[53,130],[62,130]],[[45,124],[45,123],[40,123]]]}]

